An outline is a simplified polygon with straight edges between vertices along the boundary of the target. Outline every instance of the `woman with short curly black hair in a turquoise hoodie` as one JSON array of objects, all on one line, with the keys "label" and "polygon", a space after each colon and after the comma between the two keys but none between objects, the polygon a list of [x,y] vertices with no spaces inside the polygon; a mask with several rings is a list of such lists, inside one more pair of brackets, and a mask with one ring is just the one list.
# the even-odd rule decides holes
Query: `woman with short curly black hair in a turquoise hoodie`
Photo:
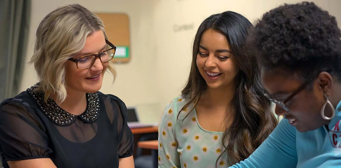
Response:
[{"label": "woman with short curly black hair in a turquoise hoodie", "polygon": [[250,33],[266,96],[283,115],[239,168],[341,165],[341,32],[314,3],[267,12]]}]

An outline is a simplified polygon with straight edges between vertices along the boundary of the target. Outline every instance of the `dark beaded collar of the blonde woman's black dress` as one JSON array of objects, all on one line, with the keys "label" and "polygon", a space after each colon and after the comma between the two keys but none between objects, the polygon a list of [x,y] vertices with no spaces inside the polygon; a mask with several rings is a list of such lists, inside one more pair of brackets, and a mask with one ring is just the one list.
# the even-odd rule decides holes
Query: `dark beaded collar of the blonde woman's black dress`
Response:
[{"label": "dark beaded collar of the blonde woman's black dress", "polygon": [[100,99],[97,93],[86,93],[87,108],[86,111],[80,115],[73,115],[62,108],[52,99],[47,99],[47,104],[44,101],[44,92],[34,91],[40,83],[36,83],[26,91],[35,99],[41,110],[52,122],[60,126],[67,126],[72,124],[77,117],[81,118],[84,122],[93,123],[98,118],[100,111]]}]

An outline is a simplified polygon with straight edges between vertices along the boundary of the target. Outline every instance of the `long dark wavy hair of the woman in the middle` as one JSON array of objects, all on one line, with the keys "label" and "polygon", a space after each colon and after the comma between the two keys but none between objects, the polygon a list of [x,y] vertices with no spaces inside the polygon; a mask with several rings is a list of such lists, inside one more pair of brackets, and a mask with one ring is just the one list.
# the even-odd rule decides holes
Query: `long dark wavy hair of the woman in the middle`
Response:
[{"label": "long dark wavy hair of the woman in the middle", "polygon": [[192,103],[196,105],[207,88],[206,81],[196,66],[200,38],[207,29],[216,30],[226,37],[238,67],[235,77],[237,86],[230,102],[234,118],[232,124],[226,126],[223,134],[224,148],[217,158],[216,166],[225,152],[228,153],[229,164],[238,163],[249,157],[278,124],[278,120],[272,113],[270,100],[263,95],[260,65],[256,56],[248,52],[249,47],[246,41],[250,27],[252,24],[247,18],[238,13],[226,11],[206,18],[199,26],[194,38],[191,71],[187,84],[182,90],[182,96],[189,102],[182,107],[181,111]]}]

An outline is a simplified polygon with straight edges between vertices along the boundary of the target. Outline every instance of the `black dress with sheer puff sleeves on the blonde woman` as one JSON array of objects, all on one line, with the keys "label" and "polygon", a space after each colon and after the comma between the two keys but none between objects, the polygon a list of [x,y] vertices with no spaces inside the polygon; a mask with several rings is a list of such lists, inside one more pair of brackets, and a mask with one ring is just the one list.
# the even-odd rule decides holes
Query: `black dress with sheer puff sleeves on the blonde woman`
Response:
[{"label": "black dress with sheer puff sleeves on the blonde woman", "polygon": [[[36,85],[39,85],[37,83]],[[118,97],[87,93],[87,109],[72,115],[33,86],[0,104],[0,153],[7,161],[50,158],[58,168],[118,168],[133,154],[127,107]]]}]

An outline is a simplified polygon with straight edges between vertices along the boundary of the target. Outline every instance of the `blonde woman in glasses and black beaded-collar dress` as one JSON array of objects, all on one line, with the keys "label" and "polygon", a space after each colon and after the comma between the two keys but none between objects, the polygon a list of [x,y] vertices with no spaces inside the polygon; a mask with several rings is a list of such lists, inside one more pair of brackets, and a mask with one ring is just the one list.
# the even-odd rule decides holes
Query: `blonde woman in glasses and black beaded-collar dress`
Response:
[{"label": "blonde woman in glasses and black beaded-collar dress", "polygon": [[116,46],[102,20],[79,4],[49,13],[31,63],[40,82],[0,104],[5,168],[133,168],[124,103],[99,92]]}]

